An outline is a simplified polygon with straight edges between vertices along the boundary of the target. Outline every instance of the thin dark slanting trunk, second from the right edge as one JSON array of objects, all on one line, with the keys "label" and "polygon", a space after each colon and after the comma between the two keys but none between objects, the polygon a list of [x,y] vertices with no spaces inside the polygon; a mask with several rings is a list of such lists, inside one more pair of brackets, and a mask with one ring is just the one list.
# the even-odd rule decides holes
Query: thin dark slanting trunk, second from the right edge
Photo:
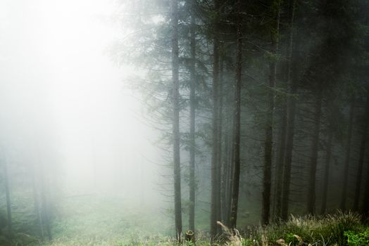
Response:
[{"label": "thin dark slanting trunk, second from the right edge", "polygon": [[354,122],[354,96],[351,97],[350,112],[349,112],[349,129],[347,131],[347,142],[346,142],[346,156],[344,159],[344,179],[342,182],[342,195],[341,195],[341,205],[342,211],[346,210],[346,191],[347,182],[349,181],[349,165],[350,165],[350,155],[351,155],[351,135],[352,135],[352,124]]}]

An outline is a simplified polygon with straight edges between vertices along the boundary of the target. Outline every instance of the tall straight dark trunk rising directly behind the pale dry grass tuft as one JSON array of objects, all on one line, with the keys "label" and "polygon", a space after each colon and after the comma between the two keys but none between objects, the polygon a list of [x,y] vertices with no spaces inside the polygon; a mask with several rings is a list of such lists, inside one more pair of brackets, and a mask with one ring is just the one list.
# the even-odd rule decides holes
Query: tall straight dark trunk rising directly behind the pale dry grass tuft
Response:
[{"label": "tall straight dark trunk rising directly behind the pale dry grass tuft", "polygon": [[242,18],[241,0],[237,1],[237,57],[236,57],[236,86],[234,91],[234,178],[232,183],[232,202],[230,212],[230,228],[237,226],[237,210],[239,197],[239,172],[241,160],[239,145],[241,135],[241,79],[242,79]]}]

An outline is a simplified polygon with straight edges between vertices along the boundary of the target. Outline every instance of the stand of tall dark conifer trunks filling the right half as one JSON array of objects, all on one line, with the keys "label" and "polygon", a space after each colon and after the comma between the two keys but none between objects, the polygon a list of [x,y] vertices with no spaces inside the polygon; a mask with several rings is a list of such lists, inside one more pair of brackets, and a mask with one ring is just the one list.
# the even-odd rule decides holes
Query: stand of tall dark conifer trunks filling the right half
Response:
[{"label": "stand of tall dark conifer trunks filling the right half", "polygon": [[[268,84],[265,84],[265,121],[263,122],[265,129],[264,148],[263,148],[263,181],[262,181],[262,201],[261,201],[261,222],[268,224],[270,222],[270,214],[273,210],[273,219],[286,220],[289,214],[290,193],[292,186],[292,170],[294,168],[294,141],[295,141],[295,122],[296,114],[299,112],[298,98],[299,93],[311,93],[313,111],[311,121],[311,147],[308,162],[308,186],[306,199],[306,213],[315,214],[315,196],[317,183],[317,168],[319,155],[321,150],[325,150],[325,165],[323,174],[323,193],[322,205],[320,212],[327,212],[327,193],[329,192],[328,184],[330,180],[330,162],[332,162],[332,151],[334,138],[337,136],[337,120],[338,110],[346,110],[345,96],[341,96],[341,105],[334,103],[334,99],[330,97],[330,93],[341,93],[341,88],[347,88],[344,76],[351,76],[352,72],[347,67],[353,67],[356,64],[345,63],[346,68],[334,67],[336,60],[344,59],[347,51],[337,51],[334,48],[342,48],[348,42],[349,36],[354,35],[356,27],[352,30],[342,30],[343,27],[331,25],[324,22],[320,30],[316,31],[322,38],[315,38],[316,48],[304,49],[304,40],[306,37],[302,28],[307,25],[306,16],[311,15],[324,20],[332,20],[332,18],[354,18],[354,4],[347,4],[343,1],[333,3],[331,0],[325,0],[317,8],[318,10],[304,11],[301,9],[303,5],[299,0],[270,0],[265,3],[248,3],[245,4],[241,0],[225,1],[219,0],[196,1],[189,0],[189,229],[195,230],[195,153],[196,153],[196,129],[195,129],[195,110],[196,110],[196,64],[200,58],[196,58],[197,35],[199,26],[204,25],[207,28],[208,36],[201,37],[209,39],[212,44],[212,133],[211,133],[211,216],[210,216],[210,234],[215,237],[220,231],[217,221],[235,228],[237,226],[237,207],[239,205],[239,179],[242,167],[241,153],[241,136],[242,136],[242,98],[246,93],[242,92],[242,88],[247,86],[243,82],[243,77],[247,76],[247,70],[242,66],[247,59],[248,49],[244,46],[244,40],[247,42],[251,39],[250,27],[248,22],[268,21],[268,28],[260,38],[270,37],[270,40],[263,43],[263,47],[255,45],[268,54]],[[175,228],[177,236],[180,237],[182,232],[182,214],[181,214],[181,188],[180,188],[180,78],[178,71],[180,70],[178,51],[178,28],[183,25],[178,19],[178,4],[182,1],[171,1],[171,22],[172,22],[172,71],[173,71],[173,163],[174,163],[174,190],[175,190]],[[186,4],[186,3],[184,3]],[[210,4],[210,5],[208,5]],[[261,6],[259,6],[261,5]],[[210,6],[210,7],[209,7]],[[212,7],[211,7],[212,6]],[[347,8],[348,11],[342,13],[340,8]],[[297,10],[296,10],[297,9]],[[205,13],[209,11],[209,13]],[[253,13],[252,11],[255,11]],[[296,14],[298,19],[296,20]],[[202,15],[208,15],[208,19]],[[341,16],[342,15],[342,16]],[[363,16],[363,15],[358,15]],[[265,20],[266,19],[266,20]],[[365,19],[365,18],[364,18]],[[352,19],[350,19],[352,20]],[[297,23],[296,23],[297,21]],[[361,20],[365,24],[367,20]],[[365,22],[366,21],[366,22]],[[225,24],[225,22],[227,22]],[[313,20],[311,21],[313,22]],[[310,22],[310,23],[311,23]],[[338,21],[339,22],[339,21]],[[229,24],[231,23],[231,24]],[[233,25],[231,30],[225,30],[225,25]],[[282,28],[281,28],[282,25]],[[356,25],[355,21],[349,25]],[[245,27],[247,26],[247,27]],[[335,29],[334,29],[335,28]],[[337,31],[337,28],[341,28]],[[352,32],[350,32],[352,31]],[[225,32],[230,34],[234,39],[225,38]],[[301,32],[301,33],[300,33]],[[311,31],[313,32],[313,31]],[[321,32],[321,33],[319,33]],[[341,37],[337,37],[335,32],[343,32]],[[316,34],[315,33],[315,34]],[[204,34],[202,34],[204,35]],[[263,36],[264,35],[264,36]],[[305,35],[305,36],[304,36]],[[182,37],[183,38],[183,37]],[[345,39],[346,38],[346,39]],[[281,39],[283,43],[281,44]],[[313,37],[312,37],[313,39]],[[343,39],[343,40],[342,40]],[[367,42],[368,43],[368,42]],[[230,59],[225,55],[225,46],[232,46],[235,53],[234,57],[234,82],[227,81],[227,85],[223,79],[224,60]],[[357,45],[357,44],[353,44]],[[368,46],[364,44],[363,46]],[[282,47],[282,48],[281,48]],[[347,50],[352,48],[344,47]],[[361,47],[363,48],[363,47]],[[231,48],[232,50],[232,48]],[[305,52],[305,53],[304,53]],[[339,54],[336,54],[340,52]],[[303,56],[311,57],[311,63],[304,63]],[[246,58],[245,58],[246,57]],[[232,59],[232,58],[231,58]],[[355,62],[354,62],[355,63]],[[333,66],[333,68],[330,68]],[[328,67],[328,68],[323,68]],[[365,65],[360,67],[361,71],[365,70]],[[230,66],[227,66],[227,72],[230,72]],[[358,107],[356,98],[362,98],[361,91],[368,91],[368,87],[363,83],[368,73],[363,72],[363,77],[357,79],[356,89],[351,90],[349,95],[349,122],[346,129],[346,157],[343,169],[343,186],[341,195],[342,210],[346,209],[346,198],[349,180],[349,168],[352,164],[351,145],[354,129],[354,108]],[[334,80],[339,82],[335,83]],[[284,81],[284,82],[283,82]],[[232,85],[230,85],[232,84]],[[232,98],[232,117],[223,110],[224,87],[232,88],[234,97]],[[282,93],[281,93],[282,91]],[[338,91],[338,92],[337,92]],[[281,96],[282,95],[282,96]],[[337,94],[338,95],[338,94]],[[347,94],[346,94],[347,95]],[[282,98],[276,103],[276,98]],[[367,130],[369,123],[369,98],[366,100],[365,112],[361,120],[361,143],[358,160],[357,179],[354,196],[354,206],[350,206],[355,211],[359,210],[361,181],[363,179],[363,163],[365,160],[365,143],[367,138]],[[277,108],[278,115],[275,115]],[[228,111],[229,112],[229,111]],[[227,118],[228,127],[225,129],[224,122]],[[232,120],[229,120],[232,119]],[[325,121],[325,122],[323,122]],[[342,123],[344,124],[344,123]],[[231,127],[229,127],[231,126]],[[278,126],[278,127],[276,127]],[[322,128],[327,129],[322,136]],[[229,131],[230,129],[230,131]],[[279,134],[275,131],[279,130]],[[277,139],[277,140],[275,140]],[[325,141],[325,147],[321,147],[320,142]],[[276,145],[274,143],[277,143]],[[273,175],[274,171],[274,175]],[[274,179],[273,179],[274,177]],[[363,206],[361,212],[368,210],[368,193],[369,187],[365,184],[365,194],[363,198]],[[273,199],[272,199],[273,198]]]}]

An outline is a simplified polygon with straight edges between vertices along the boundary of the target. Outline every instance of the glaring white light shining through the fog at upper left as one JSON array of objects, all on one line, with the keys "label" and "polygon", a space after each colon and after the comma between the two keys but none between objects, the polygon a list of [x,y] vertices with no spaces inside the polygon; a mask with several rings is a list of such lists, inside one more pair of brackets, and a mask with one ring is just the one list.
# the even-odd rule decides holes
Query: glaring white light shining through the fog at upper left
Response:
[{"label": "glaring white light shining through the fog at upper left", "polygon": [[[27,112],[40,126],[42,114],[52,115],[70,184],[91,186],[99,175],[151,186],[155,167],[146,159],[155,159],[153,132],[137,119],[139,102],[124,89],[131,70],[106,55],[117,33],[109,25],[114,8],[106,0],[2,1],[1,108],[9,117]],[[46,99],[32,105],[37,98]]]}]

